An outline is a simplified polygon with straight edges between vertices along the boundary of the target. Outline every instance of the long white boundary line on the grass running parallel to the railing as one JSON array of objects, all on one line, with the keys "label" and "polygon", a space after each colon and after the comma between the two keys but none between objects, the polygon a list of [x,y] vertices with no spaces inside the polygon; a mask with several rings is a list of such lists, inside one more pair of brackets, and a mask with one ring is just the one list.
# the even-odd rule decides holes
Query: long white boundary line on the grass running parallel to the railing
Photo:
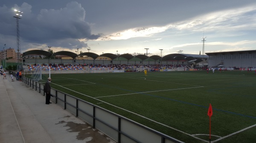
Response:
[{"label": "long white boundary line on the grass running parallel to the railing", "polygon": [[[54,84],[54,83],[52,83],[52,84]],[[58,85],[58,84],[55,84],[55,85]],[[62,87],[61,85],[58,85],[58,86]],[[66,88],[66,87],[62,87],[62,88]],[[192,87],[192,88],[196,88],[196,87]],[[67,90],[70,90],[69,88],[66,88],[66,89],[67,89]],[[74,91],[74,90],[70,90],[70,91],[73,91],[73,92],[75,92],[75,93],[79,93],[79,92]],[[93,97],[90,97],[90,96],[85,95],[85,94],[82,94],[82,93],[79,93],[79,94],[84,95],[84,96],[87,96],[87,97],[89,97],[89,98],[93,98]],[[102,103],[111,105],[111,106],[113,106],[113,107],[122,109],[122,110],[124,110],[124,111],[130,112],[130,113],[132,113],[132,114],[134,114],[134,115],[140,116],[140,117],[145,118],[145,119],[147,119],[147,120],[149,120],[149,121],[152,121],[152,122],[158,123],[158,124],[160,124],[160,125],[166,126],[166,127],[170,128],[170,129],[173,129],[173,130],[175,130],[175,131],[178,131],[178,132],[181,132],[181,133],[183,133],[183,134],[189,135],[189,136],[194,137],[194,138],[196,138],[196,139],[198,139],[198,140],[202,140],[202,141],[204,141],[204,142],[208,142],[207,140],[203,140],[203,139],[201,139],[201,138],[195,137],[195,136],[190,135],[190,134],[188,134],[188,133],[186,133],[186,132],[183,132],[183,131],[180,131],[180,130],[178,130],[178,129],[175,129],[175,128],[171,127],[171,126],[167,126],[167,125],[165,125],[165,124],[163,124],[163,123],[154,121],[154,120],[152,120],[152,119],[150,119],[150,118],[147,118],[147,117],[145,117],[145,116],[143,116],[143,115],[140,115],[140,114],[131,112],[131,111],[127,110],[127,109],[123,109],[123,108],[121,108],[121,107],[117,107],[117,106],[115,106],[115,105],[113,105],[113,104],[110,104],[110,103],[108,103],[108,102],[99,100],[99,99],[97,99],[97,98],[93,98],[93,99],[98,100],[98,101],[101,101]]]}]

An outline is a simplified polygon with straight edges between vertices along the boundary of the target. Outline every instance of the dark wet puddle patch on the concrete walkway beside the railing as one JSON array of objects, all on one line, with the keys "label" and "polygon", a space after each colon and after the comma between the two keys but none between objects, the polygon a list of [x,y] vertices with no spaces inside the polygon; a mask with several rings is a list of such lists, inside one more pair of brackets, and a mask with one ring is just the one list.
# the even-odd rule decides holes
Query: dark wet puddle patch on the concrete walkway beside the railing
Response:
[{"label": "dark wet puddle patch on the concrete walkway beside the railing", "polygon": [[[70,117],[70,116],[66,116]],[[66,129],[68,132],[78,132],[76,136],[77,140],[84,140],[85,143],[114,143],[112,140],[109,139],[106,135],[99,132],[97,129],[93,129],[91,126],[83,123],[74,123],[74,122],[66,122],[66,121],[59,121],[59,123],[55,124],[62,124],[65,123],[64,126],[69,127]]]}]

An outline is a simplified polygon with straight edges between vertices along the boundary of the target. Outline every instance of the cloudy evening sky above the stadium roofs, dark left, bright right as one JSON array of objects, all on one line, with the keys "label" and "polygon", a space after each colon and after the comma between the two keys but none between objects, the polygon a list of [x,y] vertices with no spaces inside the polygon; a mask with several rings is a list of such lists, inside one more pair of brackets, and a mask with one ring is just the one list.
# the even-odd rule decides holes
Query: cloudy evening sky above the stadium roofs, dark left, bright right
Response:
[{"label": "cloudy evening sky above the stadium roofs, dark left, bright right", "polygon": [[3,48],[17,49],[14,9],[21,53],[203,54],[202,37],[204,53],[256,50],[256,0],[1,0]]}]

